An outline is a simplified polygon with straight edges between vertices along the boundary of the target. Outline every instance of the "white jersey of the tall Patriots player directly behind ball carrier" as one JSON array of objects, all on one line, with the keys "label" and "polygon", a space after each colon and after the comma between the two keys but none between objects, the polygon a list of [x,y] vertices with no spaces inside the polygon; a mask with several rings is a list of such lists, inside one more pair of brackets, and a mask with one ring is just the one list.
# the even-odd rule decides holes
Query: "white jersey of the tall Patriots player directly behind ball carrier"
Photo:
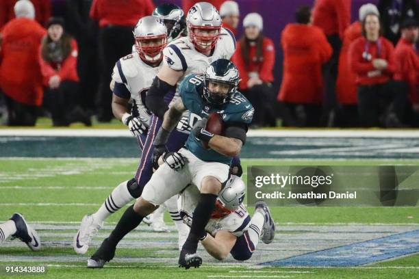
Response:
[{"label": "white jersey of the tall Patriots player directly behind ball carrier", "polygon": [[[183,70],[186,77],[190,74],[202,74],[210,64],[220,58],[230,59],[236,51],[236,38],[228,29],[221,28],[213,53],[210,56],[196,51],[194,44],[188,37],[182,37],[170,44],[163,50],[164,64],[173,70]],[[182,79],[178,81],[178,84]]]}]

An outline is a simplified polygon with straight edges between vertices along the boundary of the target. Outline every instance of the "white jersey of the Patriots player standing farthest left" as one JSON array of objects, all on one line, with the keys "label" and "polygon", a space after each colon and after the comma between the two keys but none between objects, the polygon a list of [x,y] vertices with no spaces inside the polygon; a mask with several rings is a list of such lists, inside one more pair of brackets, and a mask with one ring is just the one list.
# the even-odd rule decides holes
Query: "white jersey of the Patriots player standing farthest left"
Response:
[{"label": "white jersey of the Patriots player standing farthest left", "polygon": [[135,52],[119,59],[112,72],[112,79],[117,83],[123,83],[131,93],[131,100],[134,102],[131,114],[148,124],[151,112],[144,106],[145,97],[162,65],[160,62],[158,66],[152,67],[144,63]]}]

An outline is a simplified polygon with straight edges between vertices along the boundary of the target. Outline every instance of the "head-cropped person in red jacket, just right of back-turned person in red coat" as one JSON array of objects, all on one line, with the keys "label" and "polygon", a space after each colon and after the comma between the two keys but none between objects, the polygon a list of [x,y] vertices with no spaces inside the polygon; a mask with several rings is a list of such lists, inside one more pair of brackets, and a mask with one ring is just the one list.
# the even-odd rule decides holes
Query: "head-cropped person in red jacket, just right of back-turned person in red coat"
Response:
[{"label": "head-cropped person in red jacket, just right of back-turned person in red coat", "polygon": [[325,98],[323,100],[322,124],[330,124],[336,105],[336,79],[342,38],[351,24],[351,0],[316,0],[313,9],[313,24],[322,29],[333,53],[323,68]]}]

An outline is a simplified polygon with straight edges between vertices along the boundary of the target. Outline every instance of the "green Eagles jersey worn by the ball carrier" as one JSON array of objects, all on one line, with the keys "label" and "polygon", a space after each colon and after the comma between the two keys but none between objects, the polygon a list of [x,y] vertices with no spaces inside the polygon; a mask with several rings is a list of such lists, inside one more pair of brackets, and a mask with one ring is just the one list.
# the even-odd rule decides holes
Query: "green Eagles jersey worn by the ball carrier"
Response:
[{"label": "green Eagles jersey worn by the ball carrier", "polygon": [[[225,123],[241,122],[250,124],[252,122],[255,109],[253,109],[251,103],[240,92],[234,93],[229,103],[220,107],[211,107],[203,98],[203,85],[202,75],[188,75],[179,85],[179,94],[183,105],[189,110],[189,123],[191,127],[198,120],[208,117],[213,112],[220,114]],[[186,148],[203,161],[220,162],[227,165],[231,163],[231,157],[203,147],[201,141],[196,139],[192,133],[190,133],[186,140]]]}]

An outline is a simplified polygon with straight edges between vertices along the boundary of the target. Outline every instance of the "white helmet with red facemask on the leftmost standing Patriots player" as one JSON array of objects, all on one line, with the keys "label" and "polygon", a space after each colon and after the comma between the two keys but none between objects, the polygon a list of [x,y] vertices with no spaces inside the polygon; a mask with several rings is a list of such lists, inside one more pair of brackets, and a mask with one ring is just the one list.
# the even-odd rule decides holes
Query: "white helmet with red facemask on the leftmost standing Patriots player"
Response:
[{"label": "white helmet with red facemask on the leftmost standing Patriots player", "polygon": [[156,16],[140,18],[134,28],[135,48],[141,59],[158,63],[163,59],[163,49],[167,44],[166,25]]}]

